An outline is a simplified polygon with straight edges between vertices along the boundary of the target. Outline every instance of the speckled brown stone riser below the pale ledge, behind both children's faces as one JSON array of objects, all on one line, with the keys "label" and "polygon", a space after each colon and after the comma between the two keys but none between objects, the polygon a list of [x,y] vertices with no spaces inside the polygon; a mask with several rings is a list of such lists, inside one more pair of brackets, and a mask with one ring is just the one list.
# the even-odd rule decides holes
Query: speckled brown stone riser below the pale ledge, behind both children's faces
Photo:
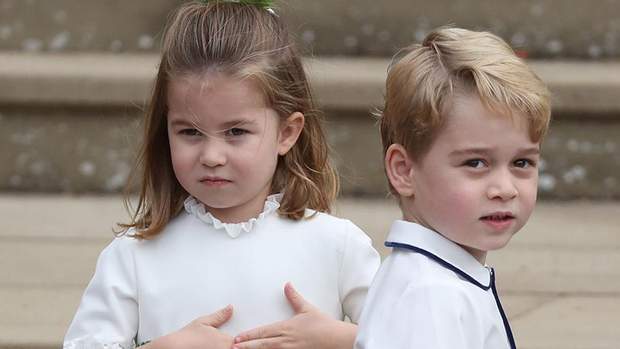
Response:
[{"label": "speckled brown stone riser below the pale ledge, behind both children's faces", "polygon": [[[384,195],[387,187],[375,121],[363,112],[326,114],[343,192]],[[0,115],[0,189],[123,190],[141,134],[137,109],[4,108]],[[540,195],[619,198],[618,135],[620,118],[557,117],[543,146]]]}]

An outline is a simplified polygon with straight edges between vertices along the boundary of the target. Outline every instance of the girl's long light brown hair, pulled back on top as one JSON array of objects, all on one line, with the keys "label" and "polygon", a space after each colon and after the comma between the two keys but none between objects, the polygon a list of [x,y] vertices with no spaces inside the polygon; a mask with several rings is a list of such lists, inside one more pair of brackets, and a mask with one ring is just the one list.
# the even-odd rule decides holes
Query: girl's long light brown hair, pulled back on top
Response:
[{"label": "girl's long light brown hair, pulled back on top", "polygon": [[[299,220],[306,208],[329,212],[338,191],[336,172],[321,115],[314,107],[301,56],[283,21],[272,10],[224,1],[182,5],[170,18],[152,101],[145,118],[143,145],[135,174],[142,176],[139,199],[129,224],[133,236],[151,238],[183,209],[188,193],[176,179],[170,156],[166,115],[169,81],[212,69],[231,77],[251,78],[284,119],[305,116],[293,148],[278,159],[272,193],[282,192],[279,213]],[[125,199],[130,209],[129,199]]]}]

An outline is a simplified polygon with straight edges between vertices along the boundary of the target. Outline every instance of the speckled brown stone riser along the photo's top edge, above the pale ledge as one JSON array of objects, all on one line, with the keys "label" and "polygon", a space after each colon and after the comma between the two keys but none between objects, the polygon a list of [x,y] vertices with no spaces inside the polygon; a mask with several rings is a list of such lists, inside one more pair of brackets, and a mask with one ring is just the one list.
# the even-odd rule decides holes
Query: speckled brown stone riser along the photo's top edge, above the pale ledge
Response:
[{"label": "speckled brown stone riser along the photo's top edge, above the pale ledge", "polygon": [[[180,0],[2,0],[0,50],[154,51]],[[281,0],[278,12],[317,55],[391,56],[437,26],[490,30],[531,57],[620,55],[618,0]]]}]

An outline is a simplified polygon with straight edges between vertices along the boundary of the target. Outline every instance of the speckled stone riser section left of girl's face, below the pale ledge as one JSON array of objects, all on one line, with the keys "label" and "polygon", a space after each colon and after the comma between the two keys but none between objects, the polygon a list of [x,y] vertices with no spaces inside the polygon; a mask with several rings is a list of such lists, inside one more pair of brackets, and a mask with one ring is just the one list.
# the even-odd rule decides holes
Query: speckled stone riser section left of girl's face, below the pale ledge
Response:
[{"label": "speckled stone riser section left of girl's face, below the pale ledge", "polygon": [[119,192],[125,187],[141,135],[136,109],[1,109],[2,189]]}]

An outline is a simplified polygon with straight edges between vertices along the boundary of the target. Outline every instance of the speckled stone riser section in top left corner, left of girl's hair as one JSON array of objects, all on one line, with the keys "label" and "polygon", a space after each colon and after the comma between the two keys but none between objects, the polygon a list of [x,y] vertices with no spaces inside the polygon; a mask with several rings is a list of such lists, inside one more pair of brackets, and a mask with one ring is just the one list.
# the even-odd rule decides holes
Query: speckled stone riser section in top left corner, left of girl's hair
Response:
[{"label": "speckled stone riser section in top left corner, left of girl's hair", "polygon": [[0,50],[153,51],[175,0],[1,0]]}]

